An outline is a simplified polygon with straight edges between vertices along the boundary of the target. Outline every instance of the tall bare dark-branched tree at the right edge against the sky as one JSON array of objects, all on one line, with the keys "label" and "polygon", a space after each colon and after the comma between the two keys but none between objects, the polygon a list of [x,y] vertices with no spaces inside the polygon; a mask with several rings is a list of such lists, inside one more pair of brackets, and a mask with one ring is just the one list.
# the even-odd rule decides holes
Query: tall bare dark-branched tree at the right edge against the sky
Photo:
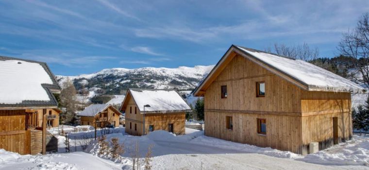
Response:
[{"label": "tall bare dark-branched tree at the right edge against the sky", "polygon": [[342,55],[356,59],[355,67],[362,76],[354,72],[350,78],[369,88],[369,13],[359,18],[355,29],[342,35],[337,48]]}]

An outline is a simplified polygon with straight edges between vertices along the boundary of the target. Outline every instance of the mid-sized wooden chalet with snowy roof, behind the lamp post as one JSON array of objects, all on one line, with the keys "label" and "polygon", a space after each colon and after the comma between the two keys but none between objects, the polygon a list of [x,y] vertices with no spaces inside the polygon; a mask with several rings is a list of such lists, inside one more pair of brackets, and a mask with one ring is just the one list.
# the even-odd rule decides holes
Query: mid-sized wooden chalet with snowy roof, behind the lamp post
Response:
[{"label": "mid-sized wooden chalet with snowy roof, behind the lamp post", "polygon": [[176,90],[129,89],[120,110],[126,133],[141,136],[155,130],[185,134],[185,112],[191,111]]}]

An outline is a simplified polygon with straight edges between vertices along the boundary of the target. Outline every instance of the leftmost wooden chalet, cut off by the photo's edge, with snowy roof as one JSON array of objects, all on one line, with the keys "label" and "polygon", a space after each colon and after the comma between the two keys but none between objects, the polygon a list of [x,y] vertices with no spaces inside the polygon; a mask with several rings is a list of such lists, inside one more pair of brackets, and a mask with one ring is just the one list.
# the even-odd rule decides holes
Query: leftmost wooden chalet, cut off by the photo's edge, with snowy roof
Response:
[{"label": "leftmost wooden chalet, cut off by the photo's edge, with snowy roof", "polygon": [[57,109],[53,93],[61,91],[50,68],[43,62],[0,56],[0,80],[0,148],[45,154],[48,111]]}]

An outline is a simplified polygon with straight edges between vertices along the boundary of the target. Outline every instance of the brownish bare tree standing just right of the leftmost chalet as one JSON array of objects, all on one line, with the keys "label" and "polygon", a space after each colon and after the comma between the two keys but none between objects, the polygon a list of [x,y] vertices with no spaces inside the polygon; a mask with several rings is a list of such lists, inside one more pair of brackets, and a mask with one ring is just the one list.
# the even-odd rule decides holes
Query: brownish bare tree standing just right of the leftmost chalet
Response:
[{"label": "brownish bare tree standing just right of the leftmost chalet", "polygon": [[63,83],[63,89],[60,94],[60,100],[62,106],[66,107],[66,122],[75,123],[76,120],[76,88],[73,82],[67,77],[67,80]]}]

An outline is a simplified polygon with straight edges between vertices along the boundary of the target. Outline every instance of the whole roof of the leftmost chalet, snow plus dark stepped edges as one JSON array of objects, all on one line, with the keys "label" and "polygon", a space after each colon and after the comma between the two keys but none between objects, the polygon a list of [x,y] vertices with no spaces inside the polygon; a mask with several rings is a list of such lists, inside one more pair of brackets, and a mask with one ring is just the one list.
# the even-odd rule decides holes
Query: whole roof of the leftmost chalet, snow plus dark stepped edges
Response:
[{"label": "whole roof of the leftmost chalet, snow plus dark stepped edges", "polygon": [[60,90],[46,63],[0,56],[0,107],[56,106]]}]

